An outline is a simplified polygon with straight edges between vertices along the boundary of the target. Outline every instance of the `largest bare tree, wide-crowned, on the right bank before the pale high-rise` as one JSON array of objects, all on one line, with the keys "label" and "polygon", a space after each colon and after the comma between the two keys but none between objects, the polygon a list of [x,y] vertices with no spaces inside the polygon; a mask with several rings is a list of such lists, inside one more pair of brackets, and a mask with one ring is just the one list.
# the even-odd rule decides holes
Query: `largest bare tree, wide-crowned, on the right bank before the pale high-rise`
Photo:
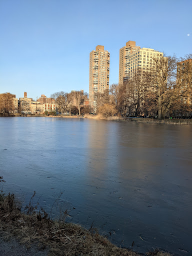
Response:
[{"label": "largest bare tree, wide-crowned, on the right bank before the pale high-rise", "polygon": [[[180,59],[180,61],[184,61],[184,59]],[[190,89],[191,62],[185,63],[185,68],[179,74],[180,79],[176,79],[177,62],[179,62],[179,59],[175,56],[158,56],[151,59],[151,65],[148,69],[150,75],[149,87],[155,93],[158,119],[164,118],[173,101],[181,98]],[[183,89],[181,89],[181,86],[183,86]]]}]

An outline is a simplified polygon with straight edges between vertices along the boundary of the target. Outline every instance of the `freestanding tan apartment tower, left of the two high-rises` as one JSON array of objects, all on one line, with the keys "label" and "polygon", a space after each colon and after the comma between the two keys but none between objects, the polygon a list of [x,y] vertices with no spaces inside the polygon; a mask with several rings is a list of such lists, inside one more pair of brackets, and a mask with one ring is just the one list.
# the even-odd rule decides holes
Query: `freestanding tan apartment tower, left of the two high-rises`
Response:
[{"label": "freestanding tan apartment tower, left of the two high-rises", "polygon": [[109,88],[110,53],[103,45],[97,45],[89,54],[89,104],[94,108],[94,92],[104,92]]}]

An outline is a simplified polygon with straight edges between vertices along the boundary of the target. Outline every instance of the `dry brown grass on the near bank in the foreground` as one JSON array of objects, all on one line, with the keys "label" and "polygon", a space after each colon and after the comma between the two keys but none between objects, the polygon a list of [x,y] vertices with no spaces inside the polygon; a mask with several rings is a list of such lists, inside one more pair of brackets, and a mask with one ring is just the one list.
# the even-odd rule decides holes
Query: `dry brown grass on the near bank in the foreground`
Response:
[{"label": "dry brown grass on the near bank in the foreground", "polygon": [[[130,249],[113,245],[104,236],[99,235],[95,228],[87,230],[77,224],[52,220],[42,208],[37,210],[37,206],[33,206],[31,201],[25,207],[24,214],[14,195],[5,195],[1,191],[0,230],[6,232],[7,237],[14,235],[20,243],[27,245],[38,242],[39,248],[48,248],[48,255],[52,256],[141,256]],[[158,251],[151,253],[147,255],[170,256]]]}]

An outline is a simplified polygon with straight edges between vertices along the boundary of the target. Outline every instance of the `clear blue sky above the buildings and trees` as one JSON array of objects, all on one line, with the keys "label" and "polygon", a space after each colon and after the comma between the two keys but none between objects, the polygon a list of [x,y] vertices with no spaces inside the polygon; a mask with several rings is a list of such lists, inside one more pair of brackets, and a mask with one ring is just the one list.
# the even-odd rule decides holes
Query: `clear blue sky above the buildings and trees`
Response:
[{"label": "clear blue sky above the buildings and trees", "polygon": [[110,84],[128,40],[167,55],[191,53],[191,11],[192,0],[0,0],[0,93],[88,92],[97,44],[110,52]]}]

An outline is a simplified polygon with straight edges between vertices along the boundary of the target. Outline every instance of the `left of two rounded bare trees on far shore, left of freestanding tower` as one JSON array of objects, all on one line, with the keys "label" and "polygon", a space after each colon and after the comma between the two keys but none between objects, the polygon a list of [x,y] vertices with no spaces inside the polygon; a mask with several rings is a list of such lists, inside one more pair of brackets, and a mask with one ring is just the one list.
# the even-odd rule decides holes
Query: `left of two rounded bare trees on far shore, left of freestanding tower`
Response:
[{"label": "left of two rounded bare trees on far shore, left of freestanding tower", "polygon": [[67,106],[70,102],[68,93],[66,93],[64,91],[59,91],[59,92],[55,92],[55,93],[51,94],[50,97],[55,100],[55,104],[58,107],[58,110],[61,112],[61,115],[62,115],[62,113],[66,111]]}]

